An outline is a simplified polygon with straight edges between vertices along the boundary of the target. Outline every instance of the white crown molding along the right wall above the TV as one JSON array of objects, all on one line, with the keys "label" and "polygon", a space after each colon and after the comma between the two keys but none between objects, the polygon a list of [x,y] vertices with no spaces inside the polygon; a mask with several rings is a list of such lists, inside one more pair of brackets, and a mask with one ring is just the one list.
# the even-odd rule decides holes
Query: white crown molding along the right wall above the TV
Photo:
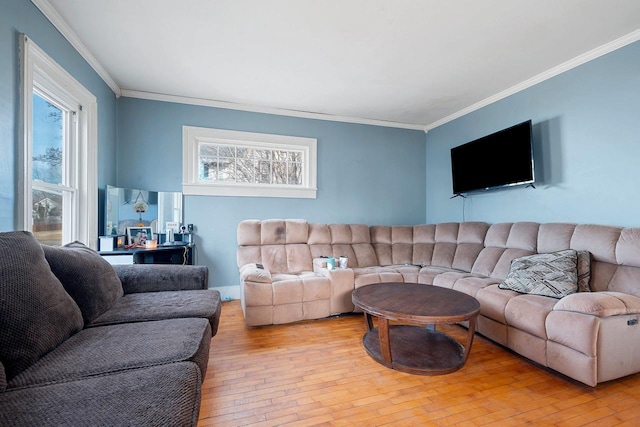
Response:
[{"label": "white crown molding along the right wall above the TV", "polygon": [[483,99],[480,102],[477,102],[467,108],[463,108],[462,110],[453,113],[443,119],[437,120],[427,126],[425,126],[424,130],[425,132],[430,130],[430,129],[434,129],[437,128],[438,126],[442,126],[445,123],[448,123],[450,121],[453,121],[457,118],[460,118],[464,115],[467,115],[473,111],[479,110],[482,107],[486,107],[487,105],[493,104],[494,102],[500,101],[501,99],[504,99],[508,96],[511,96],[517,92],[523,91],[527,88],[530,88],[531,86],[537,85],[538,83],[541,83],[545,80],[548,80],[552,77],[555,77],[559,74],[564,73],[565,71],[569,71],[572,68],[575,68],[579,65],[585,64],[589,61],[592,61],[602,55],[606,55],[607,53],[613,52],[614,50],[620,49],[621,47],[624,47],[628,44],[634,43],[636,41],[640,40],[640,30],[636,30],[632,33],[629,33],[625,36],[622,36],[610,43],[604,44],[600,47],[597,47],[593,50],[590,50],[589,52],[586,52],[582,55],[579,55],[565,63],[562,63],[560,65],[558,65],[557,67],[551,68],[543,73],[538,74],[537,76],[534,76],[532,78],[530,78],[529,80],[525,80],[522,83],[519,83],[513,87],[510,87],[507,90],[504,90],[502,92],[499,92],[493,96],[490,96],[489,98]]}]

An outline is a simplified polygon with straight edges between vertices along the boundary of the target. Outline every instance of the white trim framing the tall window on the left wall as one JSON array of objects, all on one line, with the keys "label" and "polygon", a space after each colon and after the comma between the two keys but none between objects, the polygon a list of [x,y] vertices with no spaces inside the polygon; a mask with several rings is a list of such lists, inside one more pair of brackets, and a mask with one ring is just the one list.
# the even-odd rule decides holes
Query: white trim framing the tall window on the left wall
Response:
[{"label": "white trim framing the tall window on the left wall", "polygon": [[[20,37],[22,63],[22,150],[18,159],[18,229],[31,230],[33,82],[46,81],[59,93],[75,99],[82,106],[78,114],[77,156],[78,209],[77,229],[71,240],[98,247],[98,101],[96,97],[58,65],[26,35]],[[68,242],[63,242],[68,243]]]}]

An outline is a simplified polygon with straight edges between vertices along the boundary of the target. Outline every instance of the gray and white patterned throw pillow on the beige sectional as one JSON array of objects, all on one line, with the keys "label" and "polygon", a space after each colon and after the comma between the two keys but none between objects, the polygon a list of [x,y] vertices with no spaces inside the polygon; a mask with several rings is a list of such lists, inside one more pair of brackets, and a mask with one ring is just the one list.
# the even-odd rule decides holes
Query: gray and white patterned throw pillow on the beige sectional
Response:
[{"label": "gray and white patterned throw pillow on the beige sectional", "polygon": [[501,289],[562,298],[577,292],[577,252],[573,249],[529,255],[511,261]]}]

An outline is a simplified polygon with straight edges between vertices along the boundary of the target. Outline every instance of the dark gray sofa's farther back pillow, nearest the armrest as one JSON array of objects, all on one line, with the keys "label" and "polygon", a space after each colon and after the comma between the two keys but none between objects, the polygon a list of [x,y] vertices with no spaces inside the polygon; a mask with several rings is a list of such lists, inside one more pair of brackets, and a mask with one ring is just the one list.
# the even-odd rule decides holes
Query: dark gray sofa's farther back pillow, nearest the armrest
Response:
[{"label": "dark gray sofa's farther back pillow, nearest the armrest", "polygon": [[80,307],[85,323],[93,322],[124,295],[113,266],[81,242],[42,248],[51,271]]}]

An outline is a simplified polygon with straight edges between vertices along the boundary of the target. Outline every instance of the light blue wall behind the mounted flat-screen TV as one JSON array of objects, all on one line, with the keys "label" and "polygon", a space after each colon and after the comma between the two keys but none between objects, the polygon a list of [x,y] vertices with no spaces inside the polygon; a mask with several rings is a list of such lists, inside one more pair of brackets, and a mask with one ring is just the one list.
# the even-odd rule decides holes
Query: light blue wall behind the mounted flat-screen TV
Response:
[{"label": "light blue wall behind the mounted flat-screen TV", "polygon": [[[426,221],[640,226],[639,70],[635,42],[430,130]],[[528,119],[536,188],[450,199],[450,149]]]}]

